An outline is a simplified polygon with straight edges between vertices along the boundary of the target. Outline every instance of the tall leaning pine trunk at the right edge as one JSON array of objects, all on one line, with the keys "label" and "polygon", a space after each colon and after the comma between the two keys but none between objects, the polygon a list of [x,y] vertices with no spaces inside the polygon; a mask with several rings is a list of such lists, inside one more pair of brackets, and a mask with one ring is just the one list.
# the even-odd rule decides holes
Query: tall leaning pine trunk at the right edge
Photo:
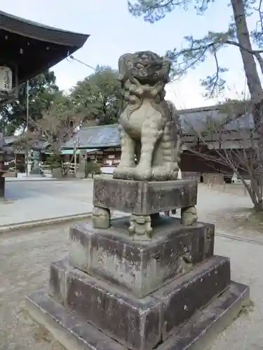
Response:
[{"label": "tall leaning pine trunk at the right edge", "polygon": [[[252,50],[250,42],[250,34],[248,31],[248,25],[245,18],[245,6],[244,0],[231,0],[231,5],[234,12],[234,20],[236,23],[236,36],[238,43],[243,48]],[[260,83],[259,74],[257,72],[257,66],[255,57],[247,50],[240,48],[241,57],[243,60],[243,68],[245,76],[248,82],[248,89],[250,97],[254,106],[252,107],[252,116],[255,124],[255,134],[258,137],[258,151],[257,151],[257,190],[259,190],[258,206],[262,208],[262,185],[263,185],[263,90]],[[260,62],[259,62],[260,63]],[[256,197],[256,194],[255,194]],[[256,208],[255,208],[256,209]]]}]

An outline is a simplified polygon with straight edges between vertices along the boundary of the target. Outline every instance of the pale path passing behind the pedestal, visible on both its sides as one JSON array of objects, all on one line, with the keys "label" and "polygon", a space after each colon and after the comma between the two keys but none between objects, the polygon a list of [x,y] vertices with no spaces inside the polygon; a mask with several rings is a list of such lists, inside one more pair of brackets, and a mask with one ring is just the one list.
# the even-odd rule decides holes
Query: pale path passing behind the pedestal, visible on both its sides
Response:
[{"label": "pale path passing behind the pedestal, visible on both its sides", "polygon": [[[213,195],[211,195],[213,193]],[[6,202],[0,202],[0,225],[43,220],[92,211],[93,181],[7,181]],[[207,202],[206,197],[209,197]],[[198,188],[200,220],[209,213],[222,212],[233,207],[249,207],[248,196],[228,195]]]}]

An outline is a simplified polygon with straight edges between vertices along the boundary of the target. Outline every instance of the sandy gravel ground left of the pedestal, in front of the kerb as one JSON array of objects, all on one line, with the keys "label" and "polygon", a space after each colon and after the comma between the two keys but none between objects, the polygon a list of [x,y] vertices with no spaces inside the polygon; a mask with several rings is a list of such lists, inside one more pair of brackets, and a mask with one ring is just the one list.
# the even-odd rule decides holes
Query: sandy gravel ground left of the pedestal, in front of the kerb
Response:
[{"label": "sandy gravel ground left of the pedestal, in front of the kerb", "polygon": [[35,325],[25,311],[25,295],[48,281],[51,260],[67,255],[68,228],[0,237],[0,349],[64,349]]}]

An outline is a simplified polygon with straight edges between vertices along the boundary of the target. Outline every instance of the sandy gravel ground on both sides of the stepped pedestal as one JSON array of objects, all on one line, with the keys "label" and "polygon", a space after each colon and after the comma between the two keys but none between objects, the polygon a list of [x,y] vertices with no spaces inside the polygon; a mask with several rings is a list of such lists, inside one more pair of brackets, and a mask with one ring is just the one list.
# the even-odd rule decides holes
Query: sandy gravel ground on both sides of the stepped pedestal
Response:
[{"label": "sandy gravel ground on both sides of the stepped pedestal", "polygon": [[[217,224],[217,232],[229,235],[222,217],[237,207],[246,208],[249,201],[200,186],[198,213],[202,221]],[[226,208],[227,207],[227,208]],[[235,232],[230,232],[234,235]],[[255,232],[259,235],[259,232]],[[241,315],[213,344],[211,349],[262,349],[263,344],[263,246],[257,239],[246,241],[246,232],[236,232],[243,241],[217,237],[217,254],[231,258],[232,277],[251,288],[255,307]],[[0,349],[1,350],[62,350],[51,335],[39,328],[27,316],[25,295],[48,282],[50,261],[67,255],[68,227],[30,230],[0,236]]]}]

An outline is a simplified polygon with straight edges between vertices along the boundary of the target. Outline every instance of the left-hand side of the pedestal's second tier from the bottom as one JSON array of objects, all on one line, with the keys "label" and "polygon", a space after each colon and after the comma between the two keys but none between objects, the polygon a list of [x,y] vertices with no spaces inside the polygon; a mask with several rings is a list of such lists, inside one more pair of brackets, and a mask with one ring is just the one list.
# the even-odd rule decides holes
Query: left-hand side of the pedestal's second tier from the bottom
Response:
[{"label": "left-hand side of the pedestal's second tier from the bottom", "polygon": [[[59,268],[62,263],[58,262]],[[161,300],[151,297],[139,300],[79,269],[68,272],[67,261],[65,275],[58,275],[65,280],[60,285],[66,286],[62,304],[77,311],[86,321],[129,349],[153,349],[159,343]],[[57,295],[54,297],[57,299]]]}]

